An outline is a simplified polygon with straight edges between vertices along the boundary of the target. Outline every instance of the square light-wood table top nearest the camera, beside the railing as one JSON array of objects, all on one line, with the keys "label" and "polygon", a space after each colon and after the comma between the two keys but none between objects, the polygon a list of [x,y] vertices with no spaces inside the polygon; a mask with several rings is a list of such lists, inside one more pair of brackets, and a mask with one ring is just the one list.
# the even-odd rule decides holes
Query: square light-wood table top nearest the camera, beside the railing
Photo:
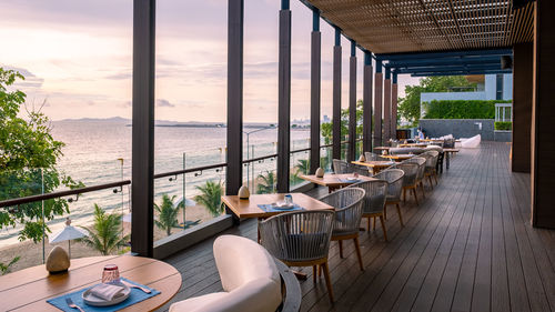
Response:
[{"label": "square light-wood table top nearest the camera, beside the railing", "polygon": [[[222,202],[239,218],[270,218],[275,214],[289,212],[286,210],[266,212],[259,208],[259,204],[269,204],[283,201],[284,193],[278,194],[252,194],[248,200],[241,200],[238,195],[222,197]],[[313,199],[303,193],[291,193],[293,202],[305,210],[333,210],[333,207]],[[297,210],[295,210],[297,211]]]}]

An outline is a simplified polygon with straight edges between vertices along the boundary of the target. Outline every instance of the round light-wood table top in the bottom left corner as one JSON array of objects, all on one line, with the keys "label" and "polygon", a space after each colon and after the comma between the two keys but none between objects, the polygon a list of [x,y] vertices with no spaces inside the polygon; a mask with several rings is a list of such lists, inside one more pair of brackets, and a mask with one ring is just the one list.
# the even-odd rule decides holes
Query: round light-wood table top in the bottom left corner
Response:
[{"label": "round light-wood table top in the bottom left corner", "polygon": [[121,276],[161,292],[120,311],[157,310],[181,288],[180,272],[155,259],[131,255],[81,258],[72,259],[65,273],[49,275],[42,264],[0,276],[0,310],[60,311],[47,300],[100,283],[107,264],[118,265]]}]

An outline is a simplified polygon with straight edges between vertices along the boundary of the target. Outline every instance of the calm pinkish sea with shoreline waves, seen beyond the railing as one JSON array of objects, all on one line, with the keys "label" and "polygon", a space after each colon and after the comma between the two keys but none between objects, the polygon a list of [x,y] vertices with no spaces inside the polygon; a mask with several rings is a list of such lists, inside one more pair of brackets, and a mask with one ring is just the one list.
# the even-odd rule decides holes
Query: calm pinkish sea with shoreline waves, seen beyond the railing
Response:
[{"label": "calm pinkish sea with shoreline waves, seen beyond the railing", "polygon": [[[87,187],[131,179],[132,127],[129,120],[56,121],[52,122],[51,128],[52,137],[65,144],[62,149],[63,157],[58,161],[58,170],[63,174],[83,182]],[[244,128],[244,132],[243,159],[276,153],[276,128],[262,124],[249,125]],[[226,128],[224,127],[164,124],[155,127],[154,133],[154,173],[225,162]],[[291,149],[309,148],[309,129],[292,129]],[[291,161],[295,163],[299,159],[307,159],[307,153],[294,154]],[[249,185],[252,185],[253,178],[256,179],[259,174],[275,170],[275,159],[266,159],[251,167],[244,167],[245,182],[249,177]],[[199,193],[196,187],[209,180],[224,183],[225,168],[190,173],[185,179],[182,174],[157,179],[154,201],[160,202],[165,193],[176,198],[184,195],[192,199]],[[184,188],[183,182],[185,182]],[[69,203],[70,213],[48,221],[47,224],[52,232],[63,228],[65,217],[71,218],[72,225],[89,224],[92,221],[94,204],[123,215],[131,212],[129,185],[67,199],[72,200]],[[20,230],[20,225],[0,230],[0,248],[18,243]]]}]

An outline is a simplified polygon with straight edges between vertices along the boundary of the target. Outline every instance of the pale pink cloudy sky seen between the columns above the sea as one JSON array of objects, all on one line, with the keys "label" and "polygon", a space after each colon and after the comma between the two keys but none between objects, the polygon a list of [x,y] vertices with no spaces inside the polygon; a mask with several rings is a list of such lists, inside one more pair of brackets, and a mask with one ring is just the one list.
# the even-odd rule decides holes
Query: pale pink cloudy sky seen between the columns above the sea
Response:
[{"label": "pale pink cloudy sky seen between the columns above the sea", "polygon": [[[226,115],[226,0],[159,0],[155,119],[222,122]],[[0,67],[52,120],[131,118],[131,0],[0,0]],[[245,0],[245,122],[278,120],[279,0]],[[292,119],[310,117],[312,12],[292,1]],[[322,115],[332,115],[333,29],[321,22]],[[342,107],[349,105],[350,42],[342,38]],[[363,54],[357,49],[357,98]],[[400,95],[417,79],[398,78]]]}]

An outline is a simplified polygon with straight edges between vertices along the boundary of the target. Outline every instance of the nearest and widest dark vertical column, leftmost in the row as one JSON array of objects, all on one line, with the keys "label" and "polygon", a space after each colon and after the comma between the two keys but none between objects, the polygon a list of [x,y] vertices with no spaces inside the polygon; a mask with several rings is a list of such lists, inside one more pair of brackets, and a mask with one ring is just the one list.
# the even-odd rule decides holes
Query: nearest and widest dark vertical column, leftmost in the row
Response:
[{"label": "nearest and widest dark vertical column, leftmost in the row", "polygon": [[131,251],[153,256],[155,0],[133,1]]}]

